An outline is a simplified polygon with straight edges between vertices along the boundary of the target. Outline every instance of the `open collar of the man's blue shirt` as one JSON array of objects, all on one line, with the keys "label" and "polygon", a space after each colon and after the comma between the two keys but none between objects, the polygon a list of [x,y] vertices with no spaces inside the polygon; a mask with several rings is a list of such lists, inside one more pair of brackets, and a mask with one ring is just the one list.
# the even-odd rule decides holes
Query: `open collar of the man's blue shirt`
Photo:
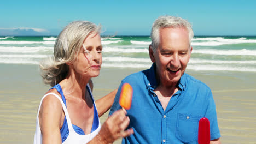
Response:
[{"label": "open collar of the man's blue shirt", "polygon": [[[152,64],[152,66],[149,69],[149,75],[148,75],[148,82],[147,82],[147,87],[152,87],[153,89],[155,89],[158,86],[158,82],[156,80],[156,65],[155,63]],[[181,76],[181,79],[179,79],[178,83],[177,83],[177,87],[181,90],[185,90],[186,88],[186,78],[187,78],[187,74],[183,74]]]}]

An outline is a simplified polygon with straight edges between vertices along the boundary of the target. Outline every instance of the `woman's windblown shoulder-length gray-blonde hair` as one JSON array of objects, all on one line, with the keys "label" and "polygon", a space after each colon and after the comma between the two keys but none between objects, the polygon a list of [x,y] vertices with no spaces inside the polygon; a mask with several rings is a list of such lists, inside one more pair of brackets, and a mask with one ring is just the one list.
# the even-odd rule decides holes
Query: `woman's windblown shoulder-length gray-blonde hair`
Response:
[{"label": "woman's windblown shoulder-length gray-blonde hair", "polygon": [[100,28],[89,21],[69,23],[55,41],[53,56],[39,63],[44,83],[54,86],[65,79],[69,69],[66,63],[75,61],[84,40],[92,32],[99,34]]}]

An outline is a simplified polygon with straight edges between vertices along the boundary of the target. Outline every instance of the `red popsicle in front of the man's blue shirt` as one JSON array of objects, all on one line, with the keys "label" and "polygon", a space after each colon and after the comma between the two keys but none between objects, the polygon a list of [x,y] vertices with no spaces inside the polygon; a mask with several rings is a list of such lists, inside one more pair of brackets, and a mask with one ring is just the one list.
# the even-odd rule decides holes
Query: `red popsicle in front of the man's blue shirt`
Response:
[{"label": "red popsicle in front of the man's blue shirt", "polygon": [[200,119],[198,125],[198,143],[209,144],[210,138],[210,122],[207,118],[203,117]]}]

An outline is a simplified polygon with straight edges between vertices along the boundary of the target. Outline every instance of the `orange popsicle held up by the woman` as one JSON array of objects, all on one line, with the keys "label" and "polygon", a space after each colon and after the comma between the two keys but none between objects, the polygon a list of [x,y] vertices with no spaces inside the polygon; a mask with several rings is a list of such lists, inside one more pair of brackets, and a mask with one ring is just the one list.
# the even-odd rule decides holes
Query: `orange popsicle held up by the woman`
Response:
[{"label": "orange popsicle held up by the woman", "polygon": [[119,104],[124,107],[125,110],[131,109],[132,101],[132,87],[129,83],[124,83],[120,93]]}]

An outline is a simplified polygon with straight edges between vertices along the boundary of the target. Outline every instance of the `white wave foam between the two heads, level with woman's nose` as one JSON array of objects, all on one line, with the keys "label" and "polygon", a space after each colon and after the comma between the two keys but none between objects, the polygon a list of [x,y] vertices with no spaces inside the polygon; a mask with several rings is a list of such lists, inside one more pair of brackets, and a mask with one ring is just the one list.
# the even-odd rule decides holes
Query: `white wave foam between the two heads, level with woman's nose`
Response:
[{"label": "white wave foam between the two heads, level with woman's nose", "polygon": [[103,57],[103,62],[147,62],[147,63],[151,63],[149,58],[132,58],[132,57]]}]

